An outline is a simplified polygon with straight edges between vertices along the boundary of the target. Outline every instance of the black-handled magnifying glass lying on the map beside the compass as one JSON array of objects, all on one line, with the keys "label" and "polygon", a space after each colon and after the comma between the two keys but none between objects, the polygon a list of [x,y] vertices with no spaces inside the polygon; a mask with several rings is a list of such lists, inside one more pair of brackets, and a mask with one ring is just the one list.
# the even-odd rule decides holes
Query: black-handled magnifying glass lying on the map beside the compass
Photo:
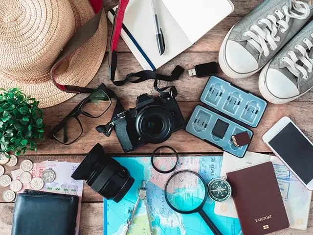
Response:
[{"label": "black-handled magnifying glass lying on the map beside the compass", "polygon": [[203,211],[208,197],[204,179],[190,170],[173,174],[165,185],[165,200],[171,209],[180,214],[199,213],[214,235],[222,235]]}]

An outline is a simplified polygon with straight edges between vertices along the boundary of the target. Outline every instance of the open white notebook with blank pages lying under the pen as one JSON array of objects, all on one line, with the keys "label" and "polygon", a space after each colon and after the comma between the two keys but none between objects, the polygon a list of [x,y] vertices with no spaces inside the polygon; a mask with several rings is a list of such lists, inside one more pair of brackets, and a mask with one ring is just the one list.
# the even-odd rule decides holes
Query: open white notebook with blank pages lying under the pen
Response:
[{"label": "open white notebook with blank pages lying under the pen", "polygon": [[[111,22],[116,8],[109,11]],[[230,0],[156,0],[165,41],[165,52],[160,56],[150,0],[130,0],[121,37],[144,70],[156,70],[191,47],[233,10]]]}]

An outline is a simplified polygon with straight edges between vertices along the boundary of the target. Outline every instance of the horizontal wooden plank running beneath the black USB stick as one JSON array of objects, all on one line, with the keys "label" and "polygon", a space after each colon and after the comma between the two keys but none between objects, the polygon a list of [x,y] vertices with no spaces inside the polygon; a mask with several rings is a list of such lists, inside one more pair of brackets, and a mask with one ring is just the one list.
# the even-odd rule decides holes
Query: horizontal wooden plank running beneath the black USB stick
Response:
[{"label": "horizontal wooden plank running beneath the black USB stick", "polygon": [[[115,80],[121,80],[126,77],[127,74],[131,72],[141,71],[142,68],[138,61],[135,59],[134,55],[130,52],[128,53],[117,53],[118,56],[118,66],[116,70]],[[178,101],[199,101],[200,95],[203,88],[208,80],[207,77],[197,78],[190,77],[188,70],[193,69],[195,65],[203,64],[207,62],[218,62],[219,54],[217,52],[184,52],[179,56],[168,62],[166,65],[162,66],[157,70],[160,74],[169,75],[174,68],[179,65],[185,69],[184,73],[180,76],[179,80],[174,82],[159,82],[159,87],[174,85],[177,87],[179,95],[177,97]],[[261,95],[259,91],[258,79],[259,73],[252,75],[246,79],[231,79],[227,77],[221,69],[219,69],[218,76],[234,83],[235,85],[249,91],[253,94]],[[104,61],[96,74],[96,76],[89,83],[88,87],[96,88],[101,83],[105,83],[110,89],[112,89],[122,101],[126,102],[135,102],[136,97],[139,94],[154,94],[156,91],[153,87],[153,80],[148,80],[145,82],[132,84],[127,83],[122,87],[116,87],[109,80],[109,70],[108,70],[108,54],[105,55]],[[86,97],[86,94],[75,95],[73,98],[69,99],[67,102],[80,102],[83,97]],[[308,92],[302,97],[295,100],[295,102],[303,101],[313,101],[313,91]],[[67,103],[66,102],[66,103]],[[63,103],[64,107],[66,103]],[[66,108],[65,108],[66,109]],[[68,111],[69,112],[69,111]]]}]

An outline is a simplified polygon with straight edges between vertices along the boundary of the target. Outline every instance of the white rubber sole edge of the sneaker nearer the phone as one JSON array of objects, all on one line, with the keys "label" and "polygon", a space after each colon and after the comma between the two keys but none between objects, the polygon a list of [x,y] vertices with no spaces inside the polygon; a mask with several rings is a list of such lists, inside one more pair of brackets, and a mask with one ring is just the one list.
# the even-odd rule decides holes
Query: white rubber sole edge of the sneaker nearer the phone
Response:
[{"label": "white rubber sole edge of the sneaker nearer the phone", "polygon": [[306,94],[307,92],[309,92],[312,89],[312,87],[311,87],[305,93],[299,94],[297,96],[287,98],[287,99],[278,98],[278,97],[274,96],[273,94],[271,94],[270,91],[268,90],[267,85],[265,84],[266,83],[266,81],[265,81],[266,73],[268,71],[268,67],[269,67],[269,64],[271,61],[272,60],[270,60],[268,62],[268,64],[263,68],[263,70],[261,71],[260,77],[259,77],[259,90],[260,90],[261,94],[263,95],[263,97],[266,100],[268,100],[268,102],[273,103],[273,104],[285,104],[285,103],[291,102],[291,101],[299,98],[300,96]]}]

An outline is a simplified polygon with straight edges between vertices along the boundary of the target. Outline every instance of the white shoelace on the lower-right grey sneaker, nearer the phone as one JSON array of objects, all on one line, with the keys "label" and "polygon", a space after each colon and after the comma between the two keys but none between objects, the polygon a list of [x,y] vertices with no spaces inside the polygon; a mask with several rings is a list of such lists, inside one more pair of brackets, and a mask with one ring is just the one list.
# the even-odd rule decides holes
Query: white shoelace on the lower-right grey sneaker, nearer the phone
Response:
[{"label": "white shoelace on the lower-right grey sneaker, nearer the phone", "polygon": [[[311,37],[313,38],[313,34],[311,34]],[[311,40],[309,40],[308,38],[305,38],[303,40],[303,42],[306,44],[306,46],[308,47],[308,50],[310,51],[313,47],[313,43],[311,42]],[[291,71],[291,73],[293,75],[295,75],[296,77],[298,77],[298,75],[300,74],[300,72],[303,74],[303,78],[304,79],[308,79],[308,72],[312,72],[313,69],[313,59],[311,59],[308,55],[307,49],[301,45],[295,45],[294,47],[296,50],[298,50],[301,55],[298,57],[294,51],[290,50],[288,51],[288,55],[289,57],[283,57],[282,61],[286,62],[288,64],[288,66],[286,67],[289,71]],[[303,68],[303,65],[298,65],[296,64],[297,61],[301,61],[303,63],[303,65],[305,65],[306,67],[308,67],[308,70],[306,70],[305,68]]]}]

